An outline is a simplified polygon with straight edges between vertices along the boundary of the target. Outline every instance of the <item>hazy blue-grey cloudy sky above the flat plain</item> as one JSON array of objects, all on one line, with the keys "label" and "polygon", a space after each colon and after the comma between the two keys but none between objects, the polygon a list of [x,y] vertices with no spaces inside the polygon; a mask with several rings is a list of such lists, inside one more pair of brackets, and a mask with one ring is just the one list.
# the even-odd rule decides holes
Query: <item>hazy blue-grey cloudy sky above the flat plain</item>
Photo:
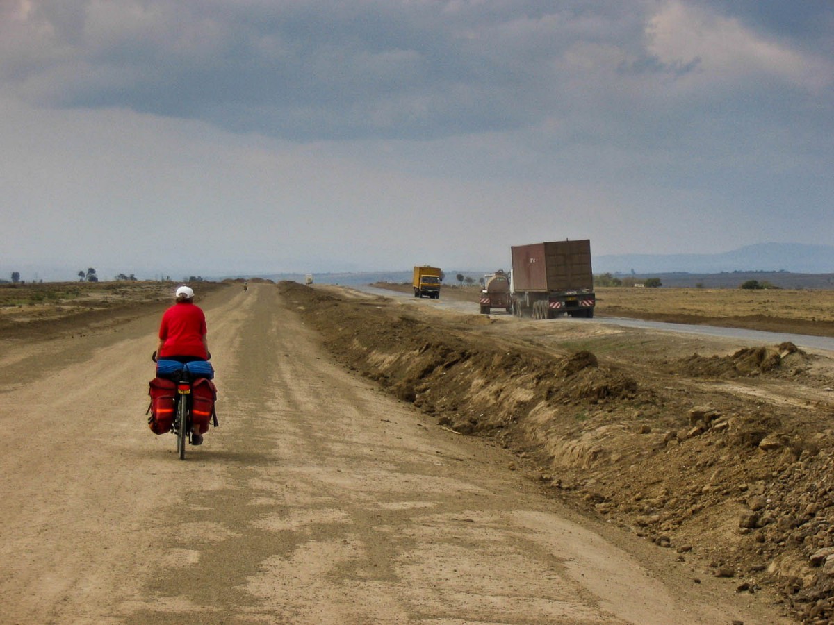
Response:
[{"label": "hazy blue-grey cloudy sky above the flat plain", "polygon": [[828,0],[0,0],[0,278],[831,244],[832,32]]}]

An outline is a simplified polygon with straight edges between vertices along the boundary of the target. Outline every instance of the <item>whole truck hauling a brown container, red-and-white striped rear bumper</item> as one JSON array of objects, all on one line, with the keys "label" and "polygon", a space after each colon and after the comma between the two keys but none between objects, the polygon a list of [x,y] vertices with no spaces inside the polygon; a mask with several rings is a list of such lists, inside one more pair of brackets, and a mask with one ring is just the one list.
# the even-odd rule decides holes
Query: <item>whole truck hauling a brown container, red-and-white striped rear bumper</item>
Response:
[{"label": "whole truck hauling a brown container, red-and-white striped rear bumper", "polygon": [[534,319],[594,316],[590,240],[532,243],[513,246],[510,252],[510,291],[516,315]]}]

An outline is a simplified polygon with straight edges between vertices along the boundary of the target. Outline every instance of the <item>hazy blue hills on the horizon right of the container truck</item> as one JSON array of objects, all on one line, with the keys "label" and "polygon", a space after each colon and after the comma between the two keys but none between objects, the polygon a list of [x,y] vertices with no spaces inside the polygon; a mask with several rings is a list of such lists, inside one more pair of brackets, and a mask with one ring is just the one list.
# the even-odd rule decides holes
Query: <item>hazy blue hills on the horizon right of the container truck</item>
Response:
[{"label": "hazy blue hills on the horizon right of the container truck", "polygon": [[834,246],[760,243],[721,254],[595,256],[594,273],[834,273]]}]

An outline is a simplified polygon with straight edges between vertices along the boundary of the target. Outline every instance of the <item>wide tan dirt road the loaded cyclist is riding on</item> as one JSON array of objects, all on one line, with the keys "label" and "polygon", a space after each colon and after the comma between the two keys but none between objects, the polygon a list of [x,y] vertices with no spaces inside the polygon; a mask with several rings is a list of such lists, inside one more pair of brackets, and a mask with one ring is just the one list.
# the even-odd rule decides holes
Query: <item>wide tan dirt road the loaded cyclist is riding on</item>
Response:
[{"label": "wide tan dirt road the loaded cyclist is riding on", "polygon": [[339,368],[274,285],[200,303],[185,462],[143,416],[156,311],[0,344],[0,622],[780,622]]}]

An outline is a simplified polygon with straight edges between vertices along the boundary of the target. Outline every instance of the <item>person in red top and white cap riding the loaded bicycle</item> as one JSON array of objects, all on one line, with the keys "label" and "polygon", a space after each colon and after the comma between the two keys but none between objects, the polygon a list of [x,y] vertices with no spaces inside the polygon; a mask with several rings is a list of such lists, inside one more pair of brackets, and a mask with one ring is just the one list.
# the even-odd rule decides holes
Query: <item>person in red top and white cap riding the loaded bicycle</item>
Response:
[{"label": "person in red top and white cap riding the loaded bicycle", "polygon": [[[208,339],[206,318],[203,310],[194,304],[192,288],[182,286],[176,291],[177,303],[163,313],[159,324],[159,343],[157,358],[177,360],[180,363],[192,363],[195,360],[208,360]],[[191,435],[191,444],[203,443],[203,432],[195,425]],[[208,425],[205,426],[208,430]]]}]

